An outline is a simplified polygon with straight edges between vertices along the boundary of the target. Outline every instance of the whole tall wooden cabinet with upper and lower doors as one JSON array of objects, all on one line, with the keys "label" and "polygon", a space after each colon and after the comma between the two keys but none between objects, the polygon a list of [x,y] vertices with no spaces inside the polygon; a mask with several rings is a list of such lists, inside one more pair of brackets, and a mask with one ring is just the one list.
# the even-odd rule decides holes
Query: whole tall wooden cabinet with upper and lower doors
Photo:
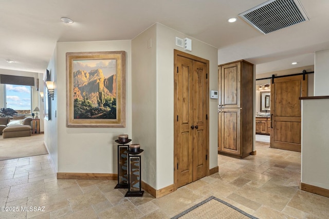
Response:
[{"label": "whole tall wooden cabinet with upper and lower doors", "polygon": [[253,144],[253,64],[218,66],[218,153],[244,158]]}]

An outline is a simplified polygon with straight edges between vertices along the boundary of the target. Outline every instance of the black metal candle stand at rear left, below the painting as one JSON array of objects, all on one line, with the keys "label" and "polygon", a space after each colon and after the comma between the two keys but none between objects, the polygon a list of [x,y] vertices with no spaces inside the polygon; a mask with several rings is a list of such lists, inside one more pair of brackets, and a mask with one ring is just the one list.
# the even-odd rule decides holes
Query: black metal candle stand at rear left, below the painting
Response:
[{"label": "black metal candle stand at rear left, below the painting", "polygon": [[129,188],[128,183],[128,151],[129,145],[125,145],[132,140],[129,139],[127,142],[119,142],[116,140],[115,142],[120,144],[118,145],[118,184],[115,189],[127,189]]}]

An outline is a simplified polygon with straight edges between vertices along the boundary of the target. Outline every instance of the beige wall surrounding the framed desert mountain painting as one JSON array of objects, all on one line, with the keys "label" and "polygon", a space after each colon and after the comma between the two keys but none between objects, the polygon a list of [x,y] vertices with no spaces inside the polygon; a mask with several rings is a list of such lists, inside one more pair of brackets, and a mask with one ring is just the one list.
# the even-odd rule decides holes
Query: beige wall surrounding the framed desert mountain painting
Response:
[{"label": "beige wall surrounding the framed desert mountain painting", "polygon": [[[57,43],[54,65],[50,68],[55,82],[52,119],[46,129],[57,129],[52,140],[58,150],[58,172],[117,173],[117,140],[119,134],[132,136],[131,41]],[[66,52],[126,51],[126,127],[66,127]],[[55,117],[57,114],[57,117]],[[56,132],[56,131],[54,131]],[[56,162],[54,162],[56,163]]]}]

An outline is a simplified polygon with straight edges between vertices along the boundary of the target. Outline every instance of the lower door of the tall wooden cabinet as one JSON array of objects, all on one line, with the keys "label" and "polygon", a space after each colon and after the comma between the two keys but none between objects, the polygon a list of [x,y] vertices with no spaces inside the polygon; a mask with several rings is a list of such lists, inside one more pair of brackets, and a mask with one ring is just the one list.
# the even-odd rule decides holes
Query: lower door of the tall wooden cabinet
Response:
[{"label": "lower door of the tall wooden cabinet", "polygon": [[[241,155],[241,109],[221,109],[218,144],[223,152]],[[221,136],[219,136],[221,135]]]}]

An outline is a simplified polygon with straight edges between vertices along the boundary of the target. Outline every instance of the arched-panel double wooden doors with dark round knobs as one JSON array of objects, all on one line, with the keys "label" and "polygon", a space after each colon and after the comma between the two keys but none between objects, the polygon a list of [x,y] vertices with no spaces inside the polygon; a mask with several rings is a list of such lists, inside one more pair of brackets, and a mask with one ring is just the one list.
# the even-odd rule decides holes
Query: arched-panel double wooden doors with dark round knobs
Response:
[{"label": "arched-panel double wooden doors with dark round knobs", "polygon": [[175,66],[174,181],[178,188],[207,174],[208,88],[206,63],[175,52]]}]

